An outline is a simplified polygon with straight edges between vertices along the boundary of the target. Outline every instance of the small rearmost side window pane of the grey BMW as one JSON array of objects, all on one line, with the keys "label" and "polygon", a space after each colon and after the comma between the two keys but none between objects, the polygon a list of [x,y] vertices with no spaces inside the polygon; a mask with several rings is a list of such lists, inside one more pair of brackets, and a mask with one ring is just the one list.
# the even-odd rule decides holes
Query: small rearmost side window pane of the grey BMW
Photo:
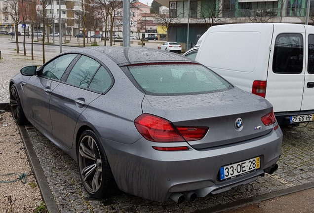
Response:
[{"label": "small rearmost side window pane of the grey BMW", "polygon": [[92,81],[90,82],[88,88],[103,93],[107,89],[109,89],[111,83],[112,80],[108,71],[106,71],[104,67],[100,67],[95,76],[93,77]]}]

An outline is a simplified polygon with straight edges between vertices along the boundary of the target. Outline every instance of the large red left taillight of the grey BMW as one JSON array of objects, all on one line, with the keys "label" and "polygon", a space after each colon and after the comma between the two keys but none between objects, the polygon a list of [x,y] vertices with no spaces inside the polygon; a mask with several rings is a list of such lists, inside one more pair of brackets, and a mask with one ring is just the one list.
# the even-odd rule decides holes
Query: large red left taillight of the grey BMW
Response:
[{"label": "large red left taillight of the grey BMW", "polygon": [[208,127],[175,127],[170,121],[144,113],[134,120],[139,133],[152,142],[185,142],[202,139]]}]

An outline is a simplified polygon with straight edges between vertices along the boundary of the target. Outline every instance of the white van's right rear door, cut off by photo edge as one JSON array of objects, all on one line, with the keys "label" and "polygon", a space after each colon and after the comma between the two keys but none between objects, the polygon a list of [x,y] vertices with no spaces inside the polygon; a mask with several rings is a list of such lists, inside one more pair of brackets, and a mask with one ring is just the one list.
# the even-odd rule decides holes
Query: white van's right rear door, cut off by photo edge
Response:
[{"label": "white van's right rear door, cut off by photo edge", "polygon": [[306,61],[305,71],[305,83],[301,110],[313,110],[314,109],[314,28],[313,26],[306,26],[306,36],[308,39],[307,57],[304,57]]}]

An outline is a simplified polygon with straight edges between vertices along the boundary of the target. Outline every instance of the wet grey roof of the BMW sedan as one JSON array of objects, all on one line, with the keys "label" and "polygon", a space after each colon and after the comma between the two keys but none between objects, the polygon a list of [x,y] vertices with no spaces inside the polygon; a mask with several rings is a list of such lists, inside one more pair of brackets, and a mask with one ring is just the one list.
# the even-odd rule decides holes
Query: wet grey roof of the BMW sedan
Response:
[{"label": "wet grey roof of the BMW sedan", "polygon": [[160,63],[160,62],[193,62],[187,57],[180,54],[173,54],[166,51],[159,51],[147,47],[85,47],[66,51],[64,53],[78,53],[85,54],[91,57],[100,58],[100,55],[111,58],[118,66],[132,65],[132,64],[146,64],[146,63]]}]

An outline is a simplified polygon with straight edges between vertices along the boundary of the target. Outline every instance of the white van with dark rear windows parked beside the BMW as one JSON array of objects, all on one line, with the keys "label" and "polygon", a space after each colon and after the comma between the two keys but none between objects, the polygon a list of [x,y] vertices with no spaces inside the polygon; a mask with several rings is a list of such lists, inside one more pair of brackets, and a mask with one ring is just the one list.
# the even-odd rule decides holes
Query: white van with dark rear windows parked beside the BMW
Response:
[{"label": "white van with dark rear windows parked beside the BMW", "polygon": [[195,60],[237,87],[265,97],[279,124],[314,120],[314,26],[214,26],[202,36]]}]

